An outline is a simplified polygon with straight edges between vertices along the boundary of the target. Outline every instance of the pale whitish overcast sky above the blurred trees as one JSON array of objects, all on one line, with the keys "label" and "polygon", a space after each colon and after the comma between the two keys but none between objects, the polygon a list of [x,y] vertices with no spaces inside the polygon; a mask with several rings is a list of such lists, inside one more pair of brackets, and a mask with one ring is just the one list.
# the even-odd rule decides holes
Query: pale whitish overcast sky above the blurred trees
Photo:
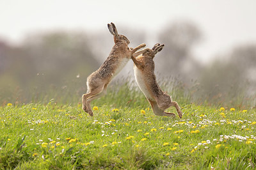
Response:
[{"label": "pale whitish overcast sky above the blurred trees", "polygon": [[256,43],[255,0],[0,0],[0,38],[10,43],[38,31],[102,31],[109,22],[138,27],[154,39],[179,20],[191,20],[202,31],[194,53],[203,62],[237,45]]}]

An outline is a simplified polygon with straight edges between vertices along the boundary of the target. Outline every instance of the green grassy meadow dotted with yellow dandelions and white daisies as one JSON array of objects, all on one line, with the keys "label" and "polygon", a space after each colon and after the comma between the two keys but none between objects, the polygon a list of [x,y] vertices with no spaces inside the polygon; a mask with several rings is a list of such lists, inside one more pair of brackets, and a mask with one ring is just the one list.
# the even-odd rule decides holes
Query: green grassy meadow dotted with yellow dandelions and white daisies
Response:
[{"label": "green grassy meadow dotted with yellow dandelions and white daisies", "polygon": [[6,103],[1,169],[256,168],[255,108],[193,104],[173,92],[183,118],[159,117],[128,88],[93,101],[93,117],[82,111],[80,96],[70,104]]}]

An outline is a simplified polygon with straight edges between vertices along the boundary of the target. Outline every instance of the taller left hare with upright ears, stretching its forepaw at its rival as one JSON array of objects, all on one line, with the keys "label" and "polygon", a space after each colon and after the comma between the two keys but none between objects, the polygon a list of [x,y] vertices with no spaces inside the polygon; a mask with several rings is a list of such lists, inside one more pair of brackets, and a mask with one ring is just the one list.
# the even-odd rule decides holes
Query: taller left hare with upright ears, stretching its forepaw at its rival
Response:
[{"label": "taller left hare with upright ears, stretching its forepaw at its rival", "polygon": [[111,79],[124,68],[132,54],[146,46],[143,43],[134,49],[129,48],[129,40],[124,35],[118,35],[115,24],[108,24],[108,29],[114,36],[115,45],[100,68],[87,77],[87,93],[82,97],[83,110],[90,116],[93,116],[90,102],[104,95]]}]

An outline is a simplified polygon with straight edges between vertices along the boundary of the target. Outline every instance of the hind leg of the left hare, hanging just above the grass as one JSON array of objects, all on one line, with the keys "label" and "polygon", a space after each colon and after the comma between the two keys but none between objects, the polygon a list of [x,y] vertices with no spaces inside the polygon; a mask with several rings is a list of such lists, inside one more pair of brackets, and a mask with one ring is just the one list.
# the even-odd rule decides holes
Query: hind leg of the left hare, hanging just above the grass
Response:
[{"label": "hind leg of the left hare, hanging just above the grass", "polygon": [[[92,101],[92,97],[99,96],[100,93],[104,90],[104,86],[99,86],[97,88],[90,89],[88,93],[84,94],[82,97],[82,103],[83,103],[83,110],[85,112],[88,112],[90,116],[93,116],[93,112],[90,106],[90,102]],[[88,102],[88,99],[91,98],[90,102]]]}]

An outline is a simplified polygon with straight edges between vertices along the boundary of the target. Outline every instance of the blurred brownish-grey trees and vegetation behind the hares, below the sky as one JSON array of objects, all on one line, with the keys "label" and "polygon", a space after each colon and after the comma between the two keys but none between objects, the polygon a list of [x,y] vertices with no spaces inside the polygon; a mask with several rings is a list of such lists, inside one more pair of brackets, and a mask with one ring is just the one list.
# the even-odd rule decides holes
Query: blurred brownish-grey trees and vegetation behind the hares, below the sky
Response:
[{"label": "blurred brownish-grey trees and vegetation behind the hares, below the sky", "polygon": [[[155,72],[163,89],[170,95],[174,93],[177,102],[186,96],[189,97],[186,102],[198,104],[255,107],[255,44],[237,44],[227,54],[202,64],[193,49],[204,33],[193,22],[169,23],[154,35],[156,42],[151,42],[152,35],[146,35],[143,30],[120,26],[118,31],[129,38],[130,47],[140,43],[147,43],[149,48],[154,43],[165,44],[154,59]],[[104,62],[113,44],[113,36],[107,28],[93,34],[60,30],[34,33],[19,45],[11,45],[0,38],[0,104],[49,102],[51,98],[81,102],[86,92],[86,77]],[[138,90],[132,61],[111,86],[118,82]]]}]

